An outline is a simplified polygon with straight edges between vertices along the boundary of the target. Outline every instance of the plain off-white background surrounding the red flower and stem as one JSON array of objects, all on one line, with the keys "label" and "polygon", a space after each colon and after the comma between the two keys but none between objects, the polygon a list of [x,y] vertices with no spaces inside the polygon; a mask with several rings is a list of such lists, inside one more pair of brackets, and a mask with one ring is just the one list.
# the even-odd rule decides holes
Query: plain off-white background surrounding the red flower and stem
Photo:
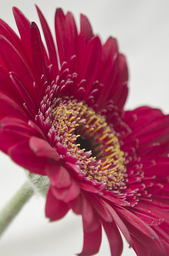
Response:
[{"label": "plain off-white background surrounding the red flower and stem", "polygon": [[[130,93],[126,109],[140,105],[161,108],[169,113],[169,1],[168,0],[37,0],[54,32],[54,11],[86,14],[103,41],[118,38],[120,51],[127,56]],[[17,30],[11,7],[17,6],[39,25],[34,0],[4,0],[0,17]],[[25,181],[23,169],[0,154],[0,207]],[[73,256],[83,245],[80,216],[71,212],[61,221],[49,223],[44,216],[45,200],[35,195],[14,219],[0,240],[2,256]],[[123,256],[135,253],[125,243]],[[109,256],[103,236],[98,256]]]}]

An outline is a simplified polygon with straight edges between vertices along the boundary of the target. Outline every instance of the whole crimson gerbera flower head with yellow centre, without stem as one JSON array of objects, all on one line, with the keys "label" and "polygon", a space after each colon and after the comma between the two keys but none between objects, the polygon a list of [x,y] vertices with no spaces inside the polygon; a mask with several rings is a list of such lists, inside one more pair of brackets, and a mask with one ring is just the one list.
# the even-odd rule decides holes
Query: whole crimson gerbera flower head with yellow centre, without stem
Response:
[{"label": "whole crimson gerbera flower head with yellow centre, without stem", "polygon": [[57,9],[57,49],[37,8],[36,23],[17,9],[20,38],[0,20],[0,149],[29,172],[46,175],[46,217],[82,215],[79,256],[99,251],[102,226],[111,255],[120,232],[138,256],[169,255],[169,116],[124,111],[125,57],[81,15]]}]

